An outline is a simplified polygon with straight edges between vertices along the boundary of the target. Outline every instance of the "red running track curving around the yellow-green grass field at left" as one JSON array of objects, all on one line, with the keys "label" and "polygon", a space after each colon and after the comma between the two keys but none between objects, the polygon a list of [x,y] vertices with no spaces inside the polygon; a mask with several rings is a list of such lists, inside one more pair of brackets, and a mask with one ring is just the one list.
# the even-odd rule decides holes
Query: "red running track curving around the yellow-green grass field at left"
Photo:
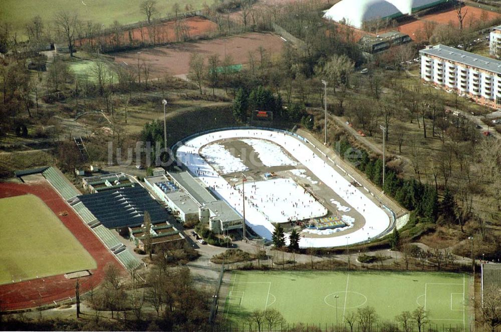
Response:
[{"label": "red running track curving around the yellow-green grass field at left", "polygon": [[[0,182],[0,198],[19,196],[27,193],[32,193],[40,197],[80,243],[82,243],[92,257],[94,257],[97,268],[91,270],[92,275],[80,278],[81,293],[95,288],[103,281],[104,267],[108,263],[115,264],[123,269],[123,266],[108,248],[101,243],[92,230],[47,181],[37,181],[34,183]],[[68,211],[68,215],[59,215],[61,211]],[[54,301],[74,297],[75,282],[76,279],[67,279],[64,275],[54,275],[4,284],[0,285],[0,299],[2,299],[5,310],[24,309],[41,304],[54,303]]]}]

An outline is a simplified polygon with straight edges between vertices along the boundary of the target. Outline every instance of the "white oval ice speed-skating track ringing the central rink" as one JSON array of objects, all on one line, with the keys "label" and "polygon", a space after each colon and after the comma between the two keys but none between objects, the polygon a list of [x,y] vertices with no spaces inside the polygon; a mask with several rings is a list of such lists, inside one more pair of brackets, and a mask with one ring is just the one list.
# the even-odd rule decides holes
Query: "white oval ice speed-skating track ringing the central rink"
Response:
[{"label": "white oval ice speed-skating track ringing the central rink", "polygon": [[[346,235],[322,238],[301,237],[300,245],[302,247],[341,246],[346,245],[347,240],[348,244],[357,243],[378,236],[389,226],[390,219],[382,208],[378,207],[357,187],[352,186],[348,180],[337,172],[337,168],[334,169],[324,161],[323,157],[313,153],[309,146],[306,145],[307,143],[294,136],[262,129],[223,130],[188,140],[177,149],[176,155],[191,170],[192,174],[196,174],[198,167],[205,174],[210,174],[208,172],[213,171],[212,167],[197,152],[201,146],[223,138],[248,137],[272,140],[282,146],[365,218],[366,223],[363,228]],[[235,182],[228,184],[221,176],[212,174],[201,175],[200,178],[207,185],[215,186],[216,194],[235,207],[240,214],[242,213],[241,195],[238,194],[237,189],[232,187]],[[250,206],[248,202],[245,204],[245,218],[245,222],[259,235],[269,239],[272,238],[273,225],[267,220],[266,216],[258,209]]]}]

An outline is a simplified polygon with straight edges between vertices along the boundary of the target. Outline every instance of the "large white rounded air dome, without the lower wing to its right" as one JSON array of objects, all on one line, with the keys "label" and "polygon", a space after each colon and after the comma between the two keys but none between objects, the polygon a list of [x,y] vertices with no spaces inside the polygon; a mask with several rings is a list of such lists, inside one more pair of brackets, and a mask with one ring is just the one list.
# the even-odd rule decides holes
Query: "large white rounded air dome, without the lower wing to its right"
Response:
[{"label": "large white rounded air dome, without the lower wing to its right", "polygon": [[324,18],[361,28],[364,21],[401,15],[402,12],[387,0],[341,0],[326,11]]}]

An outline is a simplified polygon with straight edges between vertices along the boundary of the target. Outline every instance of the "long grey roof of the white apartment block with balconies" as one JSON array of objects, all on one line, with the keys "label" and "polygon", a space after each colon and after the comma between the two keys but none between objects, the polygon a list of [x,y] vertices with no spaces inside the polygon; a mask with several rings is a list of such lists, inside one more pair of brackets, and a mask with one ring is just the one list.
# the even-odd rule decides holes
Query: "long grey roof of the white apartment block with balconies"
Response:
[{"label": "long grey roof of the white apartment block with balconies", "polygon": [[490,72],[501,73],[501,61],[499,60],[475,53],[470,53],[462,49],[445,46],[442,44],[437,44],[430,48],[421,49],[419,53],[442,57],[450,61],[478,67]]}]

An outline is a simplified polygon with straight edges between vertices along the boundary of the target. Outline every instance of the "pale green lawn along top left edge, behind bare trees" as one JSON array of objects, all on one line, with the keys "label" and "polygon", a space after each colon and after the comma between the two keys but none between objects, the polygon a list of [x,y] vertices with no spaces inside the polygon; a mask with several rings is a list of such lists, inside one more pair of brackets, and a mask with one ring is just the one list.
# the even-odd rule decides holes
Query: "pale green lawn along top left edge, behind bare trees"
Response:
[{"label": "pale green lawn along top left edge, behind bare trees", "polygon": [[[24,26],[30,20],[40,15],[42,21],[47,24],[52,23],[54,14],[60,10],[78,13],[80,20],[93,21],[108,26],[114,20],[122,24],[134,23],[146,20],[146,16],[141,13],[139,4],[141,1],[132,0],[2,0],[0,10],[0,20],[12,24],[14,31],[18,35],[25,35]],[[191,4],[193,9],[201,9],[203,0],[166,0],[157,1],[157,16],[164,17],[172,14],[172,5],[179,3],[181,11],[184,11],[186,4]]]}]

